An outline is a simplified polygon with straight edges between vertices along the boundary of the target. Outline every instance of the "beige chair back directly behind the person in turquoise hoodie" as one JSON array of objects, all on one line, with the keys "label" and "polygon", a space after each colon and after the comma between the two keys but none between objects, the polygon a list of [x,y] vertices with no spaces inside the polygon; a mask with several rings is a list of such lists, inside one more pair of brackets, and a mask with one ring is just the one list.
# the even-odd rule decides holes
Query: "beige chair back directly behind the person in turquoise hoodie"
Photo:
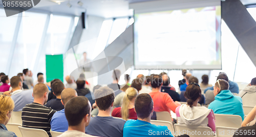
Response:
[{"label": "beige chair back directly behind the person in turquoise hoodie", "polygon": [[215,125],[218,127],[232,127],[232,128],[240,128],[242,125],[242,118],[238,115],[225,115],[215,113]]}]

